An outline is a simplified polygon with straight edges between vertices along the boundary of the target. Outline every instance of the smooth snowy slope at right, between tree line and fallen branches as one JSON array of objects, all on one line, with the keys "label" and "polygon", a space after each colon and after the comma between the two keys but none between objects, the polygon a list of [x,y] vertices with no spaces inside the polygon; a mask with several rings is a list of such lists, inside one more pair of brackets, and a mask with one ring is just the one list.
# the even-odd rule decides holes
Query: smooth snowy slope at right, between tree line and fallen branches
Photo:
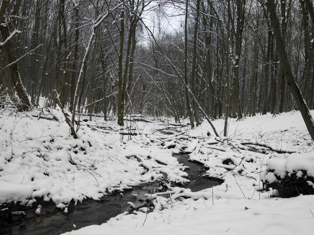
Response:
[{"label": "smooth snowy slope at right, between tree line and fallen branches", "polygon": [[[313,110],[311,114],[314,116]],[[217,131],[223,135],[224,120],[219,119],[213,123]],[[197,130],[196,128],[195,131]],[[299,151],[302,153],[314,148],[299,111],[282,113],[275,117],[268,113],[244,118],[240,121],[229,118],[228,137],[264,142],[285,151]]]}]

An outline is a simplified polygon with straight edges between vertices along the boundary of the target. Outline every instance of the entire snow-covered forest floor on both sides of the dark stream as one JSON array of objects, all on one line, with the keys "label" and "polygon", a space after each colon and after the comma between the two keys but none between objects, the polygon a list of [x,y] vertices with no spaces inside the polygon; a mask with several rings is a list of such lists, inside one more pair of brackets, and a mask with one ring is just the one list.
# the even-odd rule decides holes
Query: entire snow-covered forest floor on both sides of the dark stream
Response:
[{"label": "entire snow-covered forest floor on both sides of the dark stream", "polygon": [[[71,213],[71,201],[99,200],[114,191],[123,196],[126,189],[164,175],[167,182],[167,191],[146,194],[149,208],[65,234],[311,234],[314,230],[314,195],[275,197],[277,192],[265,191],[261,181],[267,177],[269,158],[292,154],[313,165],[302,159],[314,156],[308,153],[314,144],[298,111],[230,119],[228,138],[213,137],[206,120],[190,129],[187,120],[179,125],[165,118],[137,116],[128,117],[130,128],[121,129],[115,118],[88,121],[81,116],[78,139],[69,134],[60,110],[44,109],[38,119],[40,112],[0,112],[0,206],[33,205],[40,216],[45,210],[37,205],[42,198]],[[213,124],[223,133],[224,120]],[[206,169],[200,176],[223,182],[198,192],[179,187],[189,182],[188,171],[174,153],[189,154]]]}]

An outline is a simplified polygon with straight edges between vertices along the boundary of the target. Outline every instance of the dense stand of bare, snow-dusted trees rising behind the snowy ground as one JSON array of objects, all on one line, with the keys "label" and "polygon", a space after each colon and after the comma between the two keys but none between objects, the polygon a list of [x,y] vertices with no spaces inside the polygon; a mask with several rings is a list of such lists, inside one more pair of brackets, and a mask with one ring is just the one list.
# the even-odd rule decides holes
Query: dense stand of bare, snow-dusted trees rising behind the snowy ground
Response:
[{"label": "dense stand of bare, snow-dusted trees rising behind the snowy ground", "polygon": [[2,105],[192,127],[314,108],[311,0],[3,0],[0,17]]}]

